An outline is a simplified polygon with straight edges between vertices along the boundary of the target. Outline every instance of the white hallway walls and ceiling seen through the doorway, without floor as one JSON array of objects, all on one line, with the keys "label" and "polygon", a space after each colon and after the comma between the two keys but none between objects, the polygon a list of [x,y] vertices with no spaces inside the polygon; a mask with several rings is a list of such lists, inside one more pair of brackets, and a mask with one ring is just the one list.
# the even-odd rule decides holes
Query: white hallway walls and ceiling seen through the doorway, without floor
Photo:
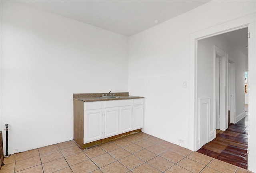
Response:
[{"label": "white hallway walls and ceiling seen through the doorway, without floor", "polygon": [[[236,123],[245,117],[244,77],[241,77],[245,71],[247,32],[245,27],[198,40],[199,148],[216,137],[216,129],[225,131],[229,119],[230,123]],[[204,108],[204,100],[209,100],[210,111]]]}]

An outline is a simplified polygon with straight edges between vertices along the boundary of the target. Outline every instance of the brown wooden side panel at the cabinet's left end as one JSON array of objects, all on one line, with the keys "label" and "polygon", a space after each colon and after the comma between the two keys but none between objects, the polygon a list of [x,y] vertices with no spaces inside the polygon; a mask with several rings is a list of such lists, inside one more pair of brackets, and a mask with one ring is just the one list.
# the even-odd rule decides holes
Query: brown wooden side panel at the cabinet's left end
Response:
[{"label": "brown wooden side panel at the cabinet's left end", "polygon": [[74,141],[80,147],[84,143],[84,102],[73,100],[74,102]]}]

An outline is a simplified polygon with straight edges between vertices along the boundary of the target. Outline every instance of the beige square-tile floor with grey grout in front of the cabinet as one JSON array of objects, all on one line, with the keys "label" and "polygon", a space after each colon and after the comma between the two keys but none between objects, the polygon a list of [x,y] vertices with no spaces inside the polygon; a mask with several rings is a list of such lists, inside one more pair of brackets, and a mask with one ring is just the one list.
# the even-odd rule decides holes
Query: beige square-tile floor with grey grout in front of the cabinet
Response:
[{"label": "beige square-tile floor with grey grout in front of the cabinet", "polygon": [[0,173],[250,173],[146,133],[90,149],[74,141],[13,154]]}]

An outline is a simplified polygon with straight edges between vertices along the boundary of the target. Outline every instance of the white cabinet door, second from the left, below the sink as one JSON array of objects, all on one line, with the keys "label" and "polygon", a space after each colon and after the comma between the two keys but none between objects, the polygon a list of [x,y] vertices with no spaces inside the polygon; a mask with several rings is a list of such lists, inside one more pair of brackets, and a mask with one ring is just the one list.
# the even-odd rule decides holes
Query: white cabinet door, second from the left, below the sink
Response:
[{"label": "white cabinet door, second from the left, below the sink", "polygon": [[118,134],[118,108],[105,109],[104,138]]}]

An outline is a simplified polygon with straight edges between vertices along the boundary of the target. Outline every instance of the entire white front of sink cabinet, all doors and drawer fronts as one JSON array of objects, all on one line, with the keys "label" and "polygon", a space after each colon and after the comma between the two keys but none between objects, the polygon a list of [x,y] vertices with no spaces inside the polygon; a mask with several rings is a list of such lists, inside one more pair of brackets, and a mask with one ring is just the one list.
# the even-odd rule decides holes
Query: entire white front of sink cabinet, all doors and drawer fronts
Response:
[{"label": "entire white front of sink cabinet, all doors and drawer fronts", "polygon": [[84,102],[84,143],[140,129],[144,99]]}]

